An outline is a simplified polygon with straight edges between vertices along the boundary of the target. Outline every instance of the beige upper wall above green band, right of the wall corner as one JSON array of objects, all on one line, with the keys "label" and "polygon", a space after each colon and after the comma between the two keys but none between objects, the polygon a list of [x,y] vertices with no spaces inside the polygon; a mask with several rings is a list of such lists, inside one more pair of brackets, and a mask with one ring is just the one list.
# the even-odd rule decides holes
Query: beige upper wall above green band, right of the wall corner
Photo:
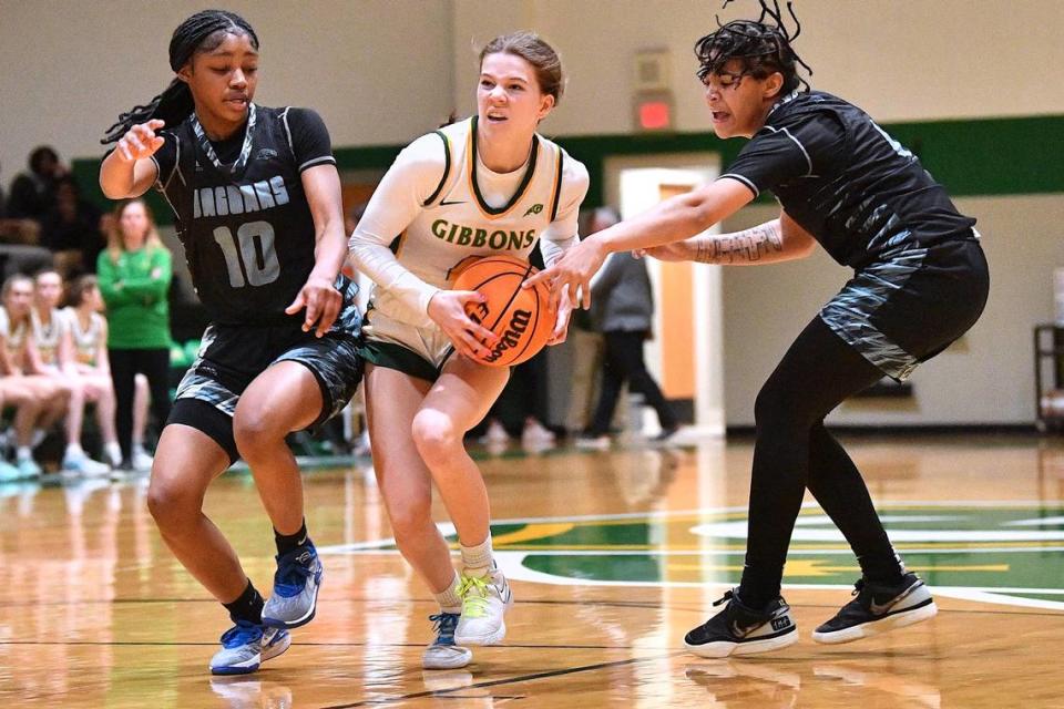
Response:
[{"label": "beige upper wall above green band, right of the wall corner", "polygon": [[[535,29],[562,54],[570,78],[555,135],[632,130],[632,64],[641,49],[672,51],[676,127],[708,124],[694,71],[695,41],[727,10],[706,0],[457,0],[454,45],[483,45],[508,29]],[[781,3],[782,4],[782,3]],[[795,48],[812,85],[838,93],[880,122],[1064,113],[1053,69],[1064,63],[1060,0],[798,0]],[[495,18],[495,21],[485,20]],[[509,22],[509,24],[508,24]],[[458,55],[458,51],[456,51]],[[475,64],[459,62],[456,103],[473,107]]]}]

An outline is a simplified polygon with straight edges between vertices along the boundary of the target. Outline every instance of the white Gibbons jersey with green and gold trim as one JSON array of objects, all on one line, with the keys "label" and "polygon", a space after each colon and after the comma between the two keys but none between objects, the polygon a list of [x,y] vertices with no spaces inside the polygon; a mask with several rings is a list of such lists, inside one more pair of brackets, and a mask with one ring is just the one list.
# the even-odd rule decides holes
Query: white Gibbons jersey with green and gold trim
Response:
[{"label": "white Gibbons jersey with green and gold trim", "polygon": [[[528,260],[539,235],[557,215],[562,169],[572,158],[555,143],[536,134],[525,173],[511,199],[494,208],[477,183],[477,117],[437,131],[447,150],[447,165],[436,192],[392,244],[399,263],[437,288],[450,288],[468,259],[513,256]],[[376,289],[374,310],[418,327],[433,326],[412,314],[395,295]],[[372,318],[372,312],[368,317]]]}]

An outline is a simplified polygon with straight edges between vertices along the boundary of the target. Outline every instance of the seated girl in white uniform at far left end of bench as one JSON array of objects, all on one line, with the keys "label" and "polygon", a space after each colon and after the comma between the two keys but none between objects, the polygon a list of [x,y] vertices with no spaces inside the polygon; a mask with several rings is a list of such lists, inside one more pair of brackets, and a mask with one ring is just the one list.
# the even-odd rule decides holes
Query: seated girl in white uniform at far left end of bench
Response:
[{"label": "seated girl in white uniform at far left end of bench", "polygon": [[0,291],[0,382],[3,398],[14,403],[16,466],[23,476],[41,474],[33,448],[66,410],[66,392],[48,377],[34,374],[29,360],[37,358],[31,329],[33,279],[17,274]]}]

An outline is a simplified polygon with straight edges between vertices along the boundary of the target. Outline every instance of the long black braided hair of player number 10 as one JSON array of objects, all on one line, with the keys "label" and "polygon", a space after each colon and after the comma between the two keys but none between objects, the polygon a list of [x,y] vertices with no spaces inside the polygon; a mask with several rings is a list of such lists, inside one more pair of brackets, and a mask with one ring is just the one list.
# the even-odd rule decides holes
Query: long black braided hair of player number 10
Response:
[{"label": "long black braided hair of player number 10", "polygon": [[[177,72],[188,63],[197,52],[209,52],[225,41],[226,34],[245,34],[252,47],[258,49],[258,35],[247,20],[226,10],[203,10],[197,12],[174,30],[170,39],[170,68]],[[119,115],[119,120],[106,130],[102,144],[117,142],[134,125],[152,119],[166,122],[167,127],[176,126],[195,110],[192,91],[181,79],[174,79],[166,90],[152,99],[146,105],[136,105]]]}]

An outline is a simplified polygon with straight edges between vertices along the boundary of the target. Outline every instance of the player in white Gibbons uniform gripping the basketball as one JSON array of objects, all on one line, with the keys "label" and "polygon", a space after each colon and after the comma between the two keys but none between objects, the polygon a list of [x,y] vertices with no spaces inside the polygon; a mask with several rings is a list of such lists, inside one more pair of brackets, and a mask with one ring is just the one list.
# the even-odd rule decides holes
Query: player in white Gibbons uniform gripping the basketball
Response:
[{"label": "player in white Gibbons uniform gripping the basketball", "polygon": [[[462,438],[510,372],[475,361],[498,338],[466,315],[480,295],[449,286],[470,259],[526,259],[539,239],[551,264],[576,243],[587,171],[536,133],[562,89],[561,60],[542,39],[492,40],[480,54],[477,115],[407,146],[350,239],[356,266],[376,284],[362,332],[377,479],[399,551],[440,605],[426,668],[462,667],[472,657],[462,645],[505,634],[512,595]],[[551,343],[565,339],[570,310],[567,301],[557,309]],[[461,575],[432,522],[433,483],[458,531]]]}]

